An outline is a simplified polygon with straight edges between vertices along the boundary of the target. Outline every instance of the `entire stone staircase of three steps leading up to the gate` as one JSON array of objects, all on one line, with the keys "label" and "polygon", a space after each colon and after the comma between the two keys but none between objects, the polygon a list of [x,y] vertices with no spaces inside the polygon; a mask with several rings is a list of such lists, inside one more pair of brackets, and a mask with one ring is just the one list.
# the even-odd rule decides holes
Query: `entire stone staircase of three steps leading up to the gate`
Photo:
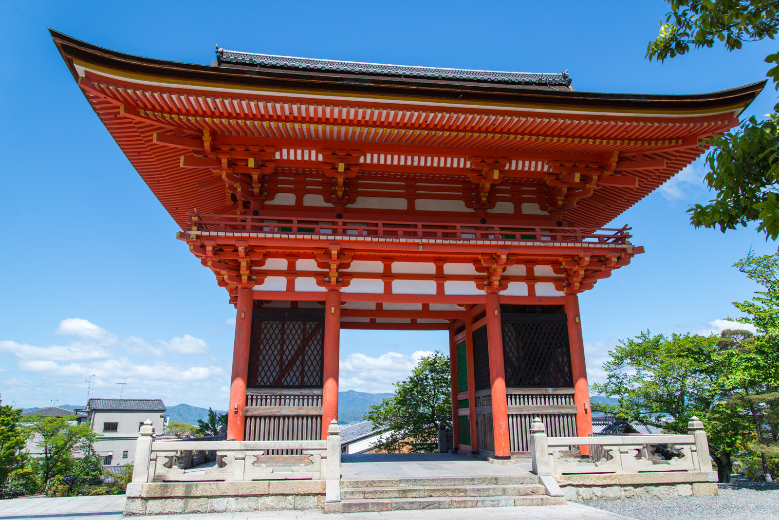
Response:
[{"label": "entire stone staircase of three steps leading up to the gate", "polygon": [[325,504],[326,513],[566,503],[565,497],[546,494],[534,475],[343,479],[340,494],[340,502]]}]

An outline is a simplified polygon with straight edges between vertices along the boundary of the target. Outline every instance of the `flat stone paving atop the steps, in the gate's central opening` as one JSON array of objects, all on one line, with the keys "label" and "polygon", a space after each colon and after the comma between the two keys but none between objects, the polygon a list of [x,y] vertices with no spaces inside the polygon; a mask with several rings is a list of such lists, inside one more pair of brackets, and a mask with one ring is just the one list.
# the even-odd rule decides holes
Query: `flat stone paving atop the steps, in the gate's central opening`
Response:
[{"label": "flat stone paving atop the steps, in the gate's central opening", "polygon": [[452,453],[373,453],[341,455],[341,478],[418,479],[430,476],[529,476],[530,464],[490,464]]}]

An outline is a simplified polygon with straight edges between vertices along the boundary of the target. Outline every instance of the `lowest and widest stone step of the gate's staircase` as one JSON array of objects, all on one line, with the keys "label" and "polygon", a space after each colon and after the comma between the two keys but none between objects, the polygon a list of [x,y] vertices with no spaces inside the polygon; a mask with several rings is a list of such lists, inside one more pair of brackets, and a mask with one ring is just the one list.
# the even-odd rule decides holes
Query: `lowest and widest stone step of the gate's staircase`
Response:
[{"label": "lowest and widest stone step of the gate's staircase", "polygon": [[327,502],[326,513],[365,513],[372,511],[404,511],[414,509],[505,508],[509,506],[541,506],[565,504],[565,497],[498,496],[498,497],[414,497],[385,499],[347,499]]}]

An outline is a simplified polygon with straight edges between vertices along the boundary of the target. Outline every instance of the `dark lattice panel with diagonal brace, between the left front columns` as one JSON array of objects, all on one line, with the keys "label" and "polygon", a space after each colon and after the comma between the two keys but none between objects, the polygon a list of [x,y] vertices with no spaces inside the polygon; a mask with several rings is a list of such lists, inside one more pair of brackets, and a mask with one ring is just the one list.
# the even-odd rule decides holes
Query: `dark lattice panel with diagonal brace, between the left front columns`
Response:
[{"label": "dark lattice panel with diagonal brace, between the left front columns", "polygon": [[249,350],[249,387],[322,386],[324,322],[255,316]]}]

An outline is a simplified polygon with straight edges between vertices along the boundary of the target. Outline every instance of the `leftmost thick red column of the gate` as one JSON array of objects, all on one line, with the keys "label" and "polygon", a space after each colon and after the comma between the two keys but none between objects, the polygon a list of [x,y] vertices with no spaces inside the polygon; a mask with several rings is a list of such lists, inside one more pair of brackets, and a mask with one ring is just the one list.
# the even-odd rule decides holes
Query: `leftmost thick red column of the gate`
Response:
[{"label": "leftmost thick red column of the gate", "polygon": [[227,438],[244,440],[246,406],[246,378],[249,375],[249,342],[252,336],[251,289],[238,290],[238,311],[235,314],[235,341],[233,343],[233,373],[230,382],[230,409],[227,410]]}]

